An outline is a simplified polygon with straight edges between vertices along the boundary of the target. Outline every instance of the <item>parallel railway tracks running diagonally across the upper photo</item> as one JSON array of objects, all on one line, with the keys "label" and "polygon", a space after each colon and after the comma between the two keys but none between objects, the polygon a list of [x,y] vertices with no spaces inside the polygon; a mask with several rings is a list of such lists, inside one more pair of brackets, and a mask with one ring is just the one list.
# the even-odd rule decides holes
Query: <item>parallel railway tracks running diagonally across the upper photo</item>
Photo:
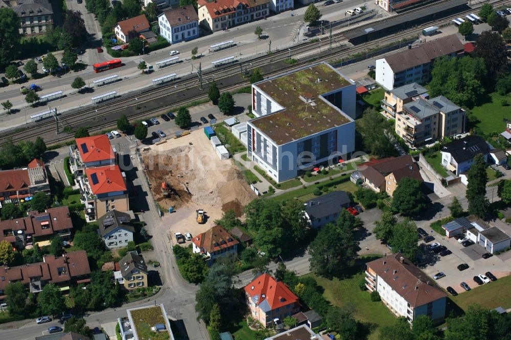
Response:
[{"label": "parallel railway tracks running diagonally across the upper photo", "polygon": [[[450,1],[450,0],[443,0],[442,2],[436,3],[436,5],[439,5],[441,3],[445,3],[448,1]],[[504,3],[505,3],[504,0],[499,0],[499,1],[493,2],[494,5],[500,5],[500,4],[504,4]],[[419,8],[416,11],[423,11],[423,10],[425,10],[425,9]],[[464,11],[464,12],[458,12],[455,15],[443,18],[441,21],[448,22],[453,18],[463,16],[463,15],[469,14],[471,12],[474,12],[474,9]],[[287,67],[275,70],[274,72],[268,73],[265,76],[270,77],[270,76],[273,76],[276,74],[281,74],[282,72],[289,71],[296,67],[303,67],[305,64],[307,64],[307,60],[311,60],[311,59],[313,59],[314,62],[328,61],[328,60],[331,60],[333,57],[338,59],[338,58],[346,57],[349,54],[356,54],[358,52],[364,52],[370,48],[385,45],[388,42],[396,41],[396,40],[399,40],[406,36],[409,36],[416,31],[420,31],[423,28],[430,26],[431,23],[433,23],[433,22],[438,22],[438,21],[432,20],[430,22],[424,23],[424,25],[417,26],[417,27],[407,29],[407,30],[403,30],[400,33],[394,34],[392,36],[381,38],[381,39],[378,39],[378,40],[375,40],[372,42],[368,42],[366,44],[359,45],[359,46],[350,46],[350,44],[347,42],[346,39],[341,39],[340,41],[335,42],[335,45],[337,47],[333,48],[332,50],[327,50],[328,52],[323,51],[323,53],[321,53],[320,56],[315,56],[314,54],[311,53],[310,58],[309,57],[305,58],[305,61],[299,63],[299,65],[289,65]],[[343,37],[343,35],[346,34],[347,32],[364,29],[364,28],[370,27],[372,25],[374,25],[374,22],[364,23],[363,25],[358,25],[356,27],[347,28],[345,30],[342,30],[341,32],[332,34],[332,38],[333,38],[333,40],[335,40],[336,38]],[[299,45],[290,47],[290,49],[291,49],[291,53],[293,55],[297,55],[297,54],[304,54],[307,52],[314,51],[314,50],[318,49],[321,45],[324,45],[324,41],[299,44]],[[245,61],[243,63],[239,63],[236,66],[241,65],[242,69],[243,69],[243,66],[246,68],[249,65],[251,68],[260,67],[260,66],[264,66],[264,65],[267,65],[267,64],[270,64],[273,62],[282,61],[284,59],[287,59],[289,53],[290,53],[290,51],[288,51],[287,49],[281,50],[281,51],[277,50],[277,51],[272,52],[271,54],[268,54],[266,56],[263,56],[263,57],[260,57],[260,58],[254,59],[254,60],[250,60],[250,61]],[[219,71],[221,71],[220,77],[218,77]],[[228,77],[231,77],[234,75],[239,75],[240,69],[238,67],[233,67],[232,64],[228,65],[228,66],[224,66],[224,67],[208,69],[208,70],[202,72],[203,79],[205,79],[206,83],[208,81],[211,81],[214,72],[217,75],[215,77],[215,81],[218,83],[221,80],[226,79]],[[157,109],[150,109],[150,110],[138,112],[135,108],[142,106],[144,103],[148,103],[148,102],[163,98],[165,96],[176,95],[176,98],[177,98],[177,95],[179,93],[182,93],[187,90],[191,90],[192,88],[196,88],[198,85],[197,79],[198,79],[197,76],[187,76],[187,77],[181,78],[178,81],[171,83],[170,85],[159,86],[156,88],[149,87],[145,90],[142,90],[142,91],[139,91],[136,93],[134,92],[134,93],[124,94],[116,99],[105,102],[104,105],[89,105],[87,107],[83,107],[78,110],[67,111],[64,114],[60,115],[59,119],[61,120],[62,123],[64,123],[64,125],[73,126],[76,123],[83,122],[83,120],[85,120],[85,119],[94,117],[93,119],[96,119],[97,123],[92,124],[89,127],[90,131],[94,132],[94,131],[103,130],[104,128],[111,127],[112,125],[114,125],[113,122],[99,123],[98,118],[101,118],[107,114],[112,114],[112,113],[115,113],[115,112],[118,112],[121,110],[125,110],[126,107],[133,108],[133,114],[130,114],[128,117],[129,119],[132,119],[132,120],[140,119],[143,117],[148,117],[151,115],[160,114],[161,112],[167,111],[171,108],[181,106],[185,103],[204,99],[207,97],[207,93],[201,93],[199,95],[193,96],[192,98],[187,98],[182,101],[176,101],[176,102],[171,103],[170,105],[164,105]],[[249,82],[243,81],[243,82],[239,82],[237,84],[221,87],[221,90],[222,91],[233,90],[233,89],[236,89],[236,88],[239,88],[242,86],[246,86],[246,85],[249,85]],[[91,121],[91,123],[93,123],[93,122],[94,122],[94,120]],[[50,131],[53,133],[48,133]],[[54,120],[45,120],[43,122],[29,124],[28,126],[25,126],[25,127],[17,127],[17,128],[13,128],[11,130],[6,130],[6,131],[0,133],[0,138],[5,139],[5,138],[10,137],[10,138],[12,138],[12,140],[14,142],[16,142],[19,140],[34,139],[35,136],[40,136],[40,135],[44,136],[44,140],[47,142],[47,144],[53,144],[53,143],[57,143],[57,142],[61,142],[63,140],[73,138],[72,135],[68,135],[68,134],[64,134],[64,133],[57,135],[55,133],[55,121]]]}]

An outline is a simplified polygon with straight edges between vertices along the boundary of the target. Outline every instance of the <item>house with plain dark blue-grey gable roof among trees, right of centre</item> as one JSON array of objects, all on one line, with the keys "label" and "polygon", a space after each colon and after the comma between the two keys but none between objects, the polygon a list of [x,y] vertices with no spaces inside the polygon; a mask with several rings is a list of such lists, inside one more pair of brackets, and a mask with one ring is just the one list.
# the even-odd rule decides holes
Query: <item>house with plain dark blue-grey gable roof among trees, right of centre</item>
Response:
[{"label": "house with plain dark blue-grey gable roof among trees, right of centre", "polygon": [[346,191],[333,191],[304,203],[305,217],[311,227],[320,228],[327,223],[334,223],[341,210],[351,204],[350,196]]}]

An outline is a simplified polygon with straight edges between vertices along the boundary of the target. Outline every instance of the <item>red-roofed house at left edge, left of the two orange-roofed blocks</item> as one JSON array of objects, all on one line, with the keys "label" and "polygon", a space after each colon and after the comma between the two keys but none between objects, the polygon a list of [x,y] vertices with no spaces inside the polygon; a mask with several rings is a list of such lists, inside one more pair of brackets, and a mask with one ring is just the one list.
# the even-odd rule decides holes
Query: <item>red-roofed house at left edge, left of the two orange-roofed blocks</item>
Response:
[{"label": "red-roofed house at left edge, left of the two orange-roofed blocks", "polygon": [[50,193],[44,162],[34,158],[27,167],[0,171],[0,207],[27,199],[38,191]]}]

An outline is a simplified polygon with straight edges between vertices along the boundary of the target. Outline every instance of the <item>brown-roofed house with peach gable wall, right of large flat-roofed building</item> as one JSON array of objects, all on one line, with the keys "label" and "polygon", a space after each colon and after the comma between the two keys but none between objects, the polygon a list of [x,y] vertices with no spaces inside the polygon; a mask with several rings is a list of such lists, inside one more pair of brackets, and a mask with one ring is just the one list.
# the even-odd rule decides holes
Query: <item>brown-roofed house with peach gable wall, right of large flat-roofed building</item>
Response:
[{"label": "brown-roofed house with peach gable wall, right of large flat-roofed building", "polygon": [[410,155],[389,158],[385,161],[366,166],[360,171],[362,179],[370,189],[376,192],[385,191],[392,197],[399,181],[405,177],[422,181],[417,163]]}]

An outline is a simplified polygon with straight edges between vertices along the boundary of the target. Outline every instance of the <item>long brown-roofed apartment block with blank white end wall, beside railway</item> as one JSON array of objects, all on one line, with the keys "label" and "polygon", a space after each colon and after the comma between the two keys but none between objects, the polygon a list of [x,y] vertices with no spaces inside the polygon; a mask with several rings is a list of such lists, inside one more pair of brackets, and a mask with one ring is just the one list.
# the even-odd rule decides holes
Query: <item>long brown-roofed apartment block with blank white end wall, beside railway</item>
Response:
[{"label": "long brown-roofed apartment block with blank white end wall, beside railway", "polygon": [[463,44],[456,35],[438,38],[376,60],[376,82],[385,90],[411,83],[423,84],[431,78],[433,61],[443,56],[463,53]]}]

